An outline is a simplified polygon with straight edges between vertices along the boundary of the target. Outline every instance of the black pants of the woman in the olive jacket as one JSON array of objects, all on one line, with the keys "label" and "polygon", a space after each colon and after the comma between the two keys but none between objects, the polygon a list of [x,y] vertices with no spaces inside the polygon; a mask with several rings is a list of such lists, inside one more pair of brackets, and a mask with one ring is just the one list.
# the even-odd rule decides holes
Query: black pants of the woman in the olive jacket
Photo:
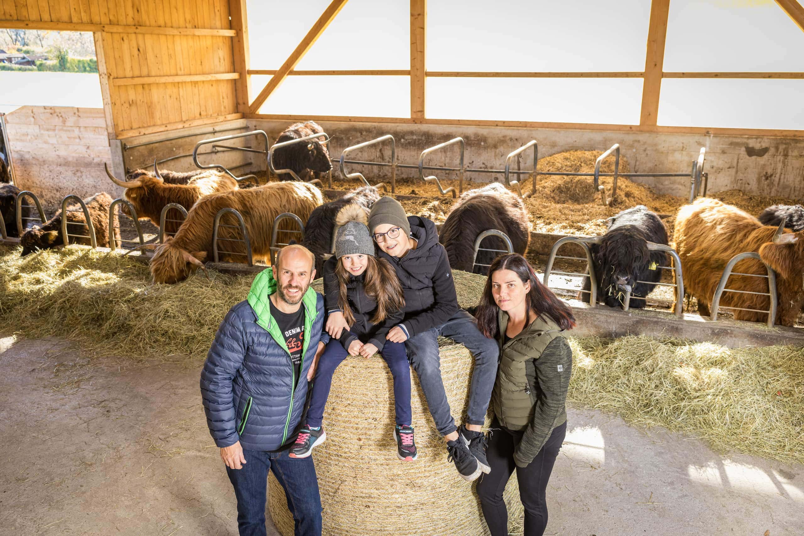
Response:
[{"label": "black pants of the woman in the olive jacket", "polygon": [[486,449],[491,473],[482,476],[477,488],[483,517],[486,518],[491,536],[508,534],[508,511],[503,501],[503,491],[514,469],[519,481],[519,498],[525,507],[523,536],[542,536],[548,526],[548,503],[544,493],[561,443],[567,434],[567,423],[552,431],[547,443],[527,467],[517,467],[514,462],[514,451],[522,439],[522,432],[502,428],[497,419],[494,419],[491,428],[493,433],[489,436]]}]

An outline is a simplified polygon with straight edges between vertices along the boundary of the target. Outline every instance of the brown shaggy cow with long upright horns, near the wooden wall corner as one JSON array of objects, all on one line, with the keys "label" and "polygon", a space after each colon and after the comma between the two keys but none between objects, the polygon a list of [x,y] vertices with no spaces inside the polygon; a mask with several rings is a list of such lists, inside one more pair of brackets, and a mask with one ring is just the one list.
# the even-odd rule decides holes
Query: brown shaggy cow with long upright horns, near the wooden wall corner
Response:
[{"label": "brown shaggy cow with long upright horns, near the wooden wall corner", "polygon": [[[139,170],[137,170],[133,174],[138,174],[137,178],[129,181],[121,181],[109,171],[109,166],[104,166],[106,174],[109,175],[112,182],[125,188],[123,196],[137,211],[137,218],[150,219],[151,223],[157,227],[159,227],[159,217],[162,215],[162,209],[169,203],[177,203],[184,207],[184,210],[189,211],[190,207],[204,195],[237,189],[236,179],[217,170],[203,170],[201,173],[193,171],[188,174],[173,174],[171,172],[170,180],[178,181],[187,178],[187,184],[180,184],[167,182],[159,173],[155,164],[154,174],[145,172],[139,174]],[[121,207],[121,211],[123,214],[130,216],[129,207],[126,205]],[[171,219],[175,218],[166,219],[165,232],[172,235],[178,231],[181,222],[170,221]]]}]

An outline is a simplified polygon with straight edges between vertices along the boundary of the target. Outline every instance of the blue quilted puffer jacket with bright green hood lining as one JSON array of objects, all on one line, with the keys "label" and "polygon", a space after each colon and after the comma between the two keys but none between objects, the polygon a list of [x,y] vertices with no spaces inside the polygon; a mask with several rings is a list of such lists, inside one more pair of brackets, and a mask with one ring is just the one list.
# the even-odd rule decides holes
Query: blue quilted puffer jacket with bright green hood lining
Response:
[{"label": "blue quilted puffer jacket with bright green hood lining", "polygon": [[307,395],[307,371],[324,331],[324,299],[313,288],[301,298],[305,308],[301,380],[282,333],[270,314],[277,290],[270,268],[252,283],[248,300],[229,310],[215,333],[201,371],[207,426],[219,447],[240,440],[244,449],[275,451],[293,441]]}]

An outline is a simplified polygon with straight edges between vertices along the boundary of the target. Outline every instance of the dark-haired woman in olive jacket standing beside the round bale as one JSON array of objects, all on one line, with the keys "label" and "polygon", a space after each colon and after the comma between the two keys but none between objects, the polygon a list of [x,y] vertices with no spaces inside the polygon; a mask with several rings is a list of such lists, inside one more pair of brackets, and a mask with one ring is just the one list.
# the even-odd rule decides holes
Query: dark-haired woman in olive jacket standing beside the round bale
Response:
[{"label": "dark-haired woman in olive jacket standing beside the round bale", "polygon": [[500,346],[486,450],[491,472],[478,482],[483,517],[491,536],[508,534],[503,490],[516,469],[524,536],[540,536],[548,524],[544,493],[567,431],[572,350],[566,337],[575,318],[518,253],[491,264],[475,316],[478,329]]}]

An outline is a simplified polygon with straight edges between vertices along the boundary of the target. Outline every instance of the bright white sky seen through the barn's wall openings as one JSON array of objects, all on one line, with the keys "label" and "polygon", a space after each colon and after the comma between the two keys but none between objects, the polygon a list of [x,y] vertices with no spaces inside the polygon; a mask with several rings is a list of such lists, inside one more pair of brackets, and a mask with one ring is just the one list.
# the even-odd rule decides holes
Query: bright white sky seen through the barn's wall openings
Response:
[{"label": "bright white sky seen through the barn's wall openings", "polygon": [[[800,0],[799,0],[800,1]],[[252,69],[277,69],[330,0],[248,0]],[[804,32],[773,0],[672,0],[666,72],[804,72]],[[409,2],[350,0],[299,70],[409,68]],[[649,0],[429,0],[429,71],[636,71]],[[270,76],[252,76],[252,99]],[[639,123],[642,79],[429,78],[426,116]],[[0,111],[102,107],[96,75],[0,72]],[[658,124],[804,129],[804,80],[664,79]],[[408,76],[289,76],[261,113],[409,117]]]}]

